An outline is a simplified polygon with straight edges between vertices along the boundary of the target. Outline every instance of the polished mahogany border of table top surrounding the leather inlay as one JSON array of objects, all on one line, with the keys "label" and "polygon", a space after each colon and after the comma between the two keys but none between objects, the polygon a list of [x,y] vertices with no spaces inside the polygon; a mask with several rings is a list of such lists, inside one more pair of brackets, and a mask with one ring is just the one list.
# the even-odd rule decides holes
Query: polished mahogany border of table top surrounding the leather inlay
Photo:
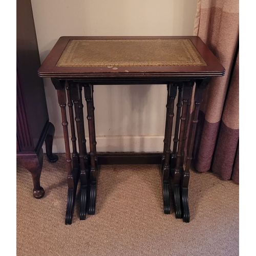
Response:
[{"label": "polished mahogany border of table top surrounding the leather inlay", "polygon": [[[57,62],[71,39],[189,39],[200,53],[207,66],[122,66],[122,67],[58,67]],[[125,48],[125,44],[123,46]],[[154,49],[152,49],[154,50]],[[130,53],[131,55],[133,52]],[[135,56],[136,57],[136,56]],[[63,36],[56,42],[56,45],[42,63],[38,74],[41,77],[57,78],[101,78],[105,76],[117,78],[142,78],[156,79],[172,77],[200,77],[200,76],[220,76],[224,75],[225,69],[218,59],[206,47],[204,42],[197,36],[166,36],[166,37],[80,37]]]}]

